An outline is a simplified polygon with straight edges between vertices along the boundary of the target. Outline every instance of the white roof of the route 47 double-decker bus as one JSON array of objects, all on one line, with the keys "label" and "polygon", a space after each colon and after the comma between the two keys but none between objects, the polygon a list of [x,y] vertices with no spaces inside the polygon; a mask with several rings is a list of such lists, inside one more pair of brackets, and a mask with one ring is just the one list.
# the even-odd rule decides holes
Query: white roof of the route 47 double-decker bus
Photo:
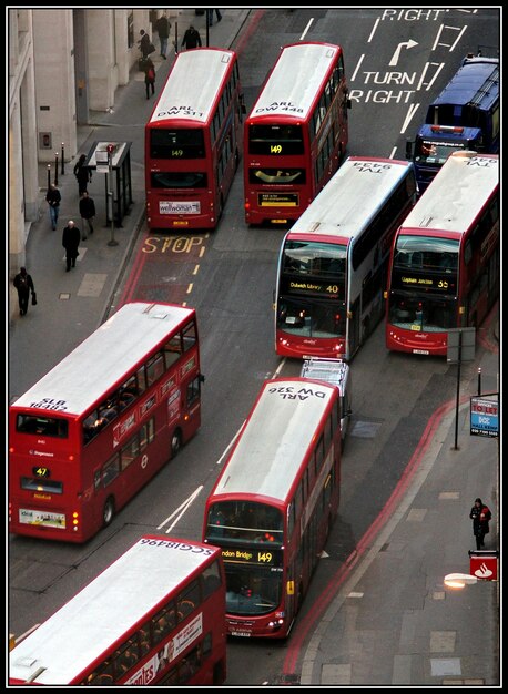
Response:
[{"label": "white roof of the route 47 double-decker bus", "polygon": [[193,314],[193,308],[171,304],[125,304],[13,407],[34,407],[53,399],[64,405],[60,414],[83,415]]}]

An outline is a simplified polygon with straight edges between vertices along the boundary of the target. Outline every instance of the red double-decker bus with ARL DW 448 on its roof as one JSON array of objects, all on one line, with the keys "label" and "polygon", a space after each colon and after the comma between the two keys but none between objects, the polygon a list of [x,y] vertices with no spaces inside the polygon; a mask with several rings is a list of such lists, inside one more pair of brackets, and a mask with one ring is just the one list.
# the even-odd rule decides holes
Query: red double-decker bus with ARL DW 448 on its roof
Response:
[{"label": "red double-decker bus with ARL DW 448 on its roof", "polygon": [[247,224],[297,220],[337,171],[350,108],[339,45],[285,45],[245,120]]}]

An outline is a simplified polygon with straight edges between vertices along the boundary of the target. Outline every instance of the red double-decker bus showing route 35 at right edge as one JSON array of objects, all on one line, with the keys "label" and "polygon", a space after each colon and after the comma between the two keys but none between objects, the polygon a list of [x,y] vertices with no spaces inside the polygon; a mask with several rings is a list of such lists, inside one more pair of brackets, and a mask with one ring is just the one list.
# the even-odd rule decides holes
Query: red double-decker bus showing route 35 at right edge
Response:
[{"label": "red double-decker bus showing route 35 at right edge", "polygon": [[446,356],[448,330],[478,327],[499,296],[499,157],[454,152],[397,231],[386,347]]}]

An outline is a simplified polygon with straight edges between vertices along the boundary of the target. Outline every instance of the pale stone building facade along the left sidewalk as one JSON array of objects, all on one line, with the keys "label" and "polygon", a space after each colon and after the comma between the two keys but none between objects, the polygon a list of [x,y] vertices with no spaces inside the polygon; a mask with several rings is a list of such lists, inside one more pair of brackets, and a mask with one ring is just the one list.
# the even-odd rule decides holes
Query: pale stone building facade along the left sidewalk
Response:
[{"label": "pale stone building facade along the left sidewalk", "polygon": [[[47,184],[41,165],[77,155],[78,126],[114,106],[163,9],[7,8],[9,275],[24,264]],[[167,10],[169,17],[177,10]],[[61,161],[61,160],[60,160]]]}]

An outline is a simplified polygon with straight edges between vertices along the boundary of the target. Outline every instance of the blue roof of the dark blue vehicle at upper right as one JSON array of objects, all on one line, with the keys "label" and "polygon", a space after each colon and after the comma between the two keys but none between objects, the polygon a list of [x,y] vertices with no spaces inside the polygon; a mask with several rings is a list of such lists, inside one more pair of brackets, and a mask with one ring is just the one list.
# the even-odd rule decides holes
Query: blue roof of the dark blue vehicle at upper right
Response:
[{"label": "blue roof of the dark blue vehicle at upper right", "polygon": [[467,58],[430,108],[475,105],[488,111],[499,100],[499,60]]}]

